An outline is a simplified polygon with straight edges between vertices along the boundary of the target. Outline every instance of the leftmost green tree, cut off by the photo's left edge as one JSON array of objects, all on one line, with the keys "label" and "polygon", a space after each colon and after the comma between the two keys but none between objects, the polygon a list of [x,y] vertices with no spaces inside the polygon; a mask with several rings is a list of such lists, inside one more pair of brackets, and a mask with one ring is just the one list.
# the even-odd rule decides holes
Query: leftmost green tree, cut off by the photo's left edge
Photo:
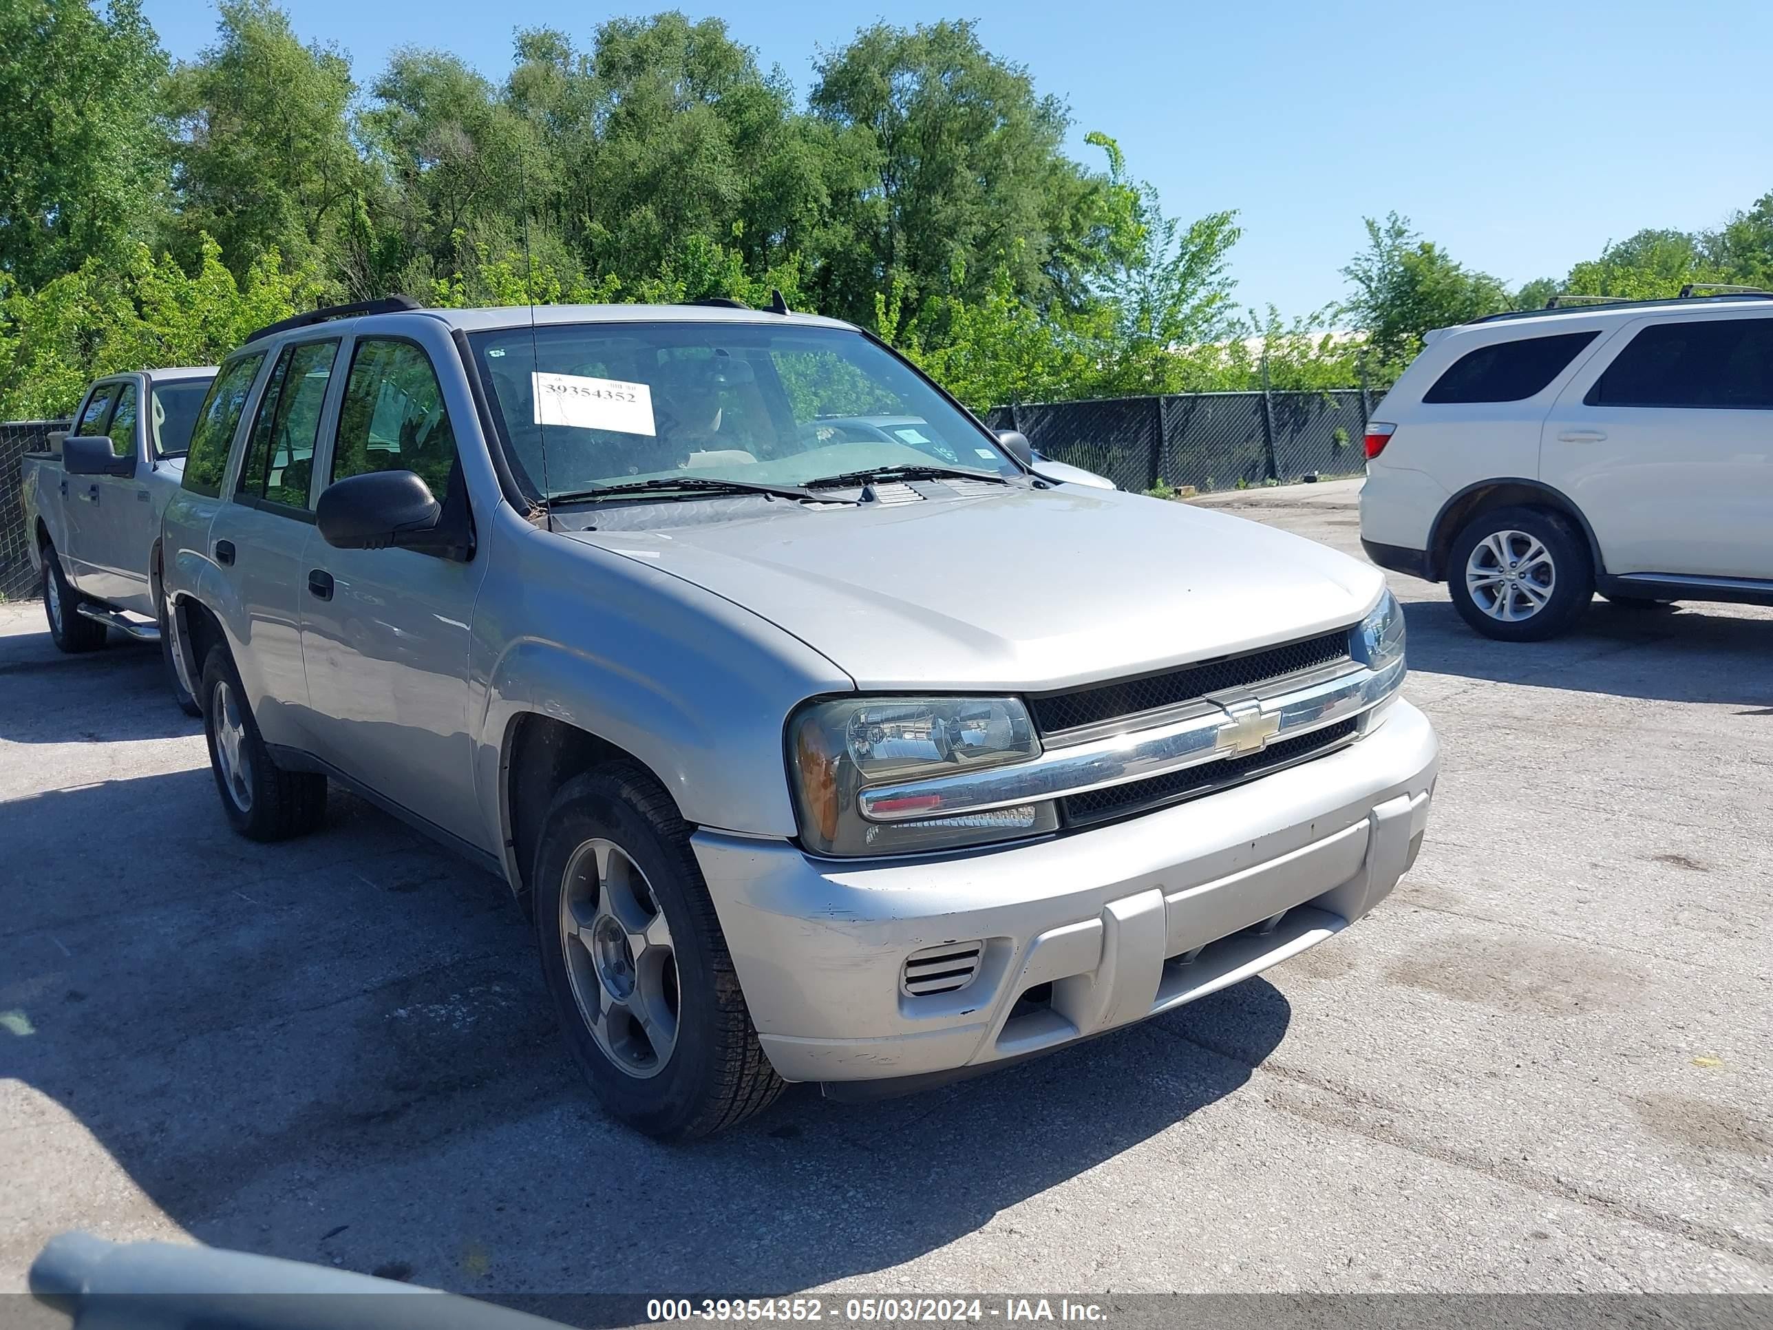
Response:
[{"label": "leftmost green tree, cut off by the photo's left edge", "polygon": [[167,57],[138,0],[7,0],[0,51],[0,275],[32,289],[152,232]]}]

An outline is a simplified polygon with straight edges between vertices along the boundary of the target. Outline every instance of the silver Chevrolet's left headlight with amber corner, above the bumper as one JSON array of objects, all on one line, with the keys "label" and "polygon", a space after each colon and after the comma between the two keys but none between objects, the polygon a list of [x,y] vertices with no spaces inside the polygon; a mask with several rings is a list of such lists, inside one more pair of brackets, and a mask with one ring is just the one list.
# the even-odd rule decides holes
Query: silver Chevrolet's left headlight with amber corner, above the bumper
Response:
[{"label": "silver Chevrolet's left headlight with amber corner, above the bumper", "polygon": [[1051,803],[957,818],[871,823],[856,794],[1039,757],[1028,709],[1014,697],[858,697],[812,702],[789,720],[787,764],[801,841],[817,855],[904,855],[1051,832]]}]

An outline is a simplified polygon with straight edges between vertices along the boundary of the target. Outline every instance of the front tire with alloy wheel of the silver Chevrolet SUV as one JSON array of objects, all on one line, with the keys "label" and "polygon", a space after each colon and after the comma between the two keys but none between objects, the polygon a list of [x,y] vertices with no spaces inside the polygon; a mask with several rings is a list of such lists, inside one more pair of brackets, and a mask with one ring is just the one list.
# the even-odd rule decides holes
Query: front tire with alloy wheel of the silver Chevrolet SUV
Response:
[{"label": "front tire with alloy wheel of the silver Chevrolet SUV", "polygon": [[534,887],[560,1032],[612,1117],[684,1140],[775,1101],[784,1082],[757,1041],[690,828],[645,768],[612,763],[560,789]]}]

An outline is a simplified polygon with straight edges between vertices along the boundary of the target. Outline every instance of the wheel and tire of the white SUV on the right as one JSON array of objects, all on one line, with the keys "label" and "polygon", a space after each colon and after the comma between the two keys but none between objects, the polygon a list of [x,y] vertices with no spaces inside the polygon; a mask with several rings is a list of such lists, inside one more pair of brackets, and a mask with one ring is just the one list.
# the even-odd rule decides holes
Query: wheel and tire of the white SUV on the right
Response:
[{"label": "wheel and tire of the white SUV on the right", "polygon": [[[1507,555],[1507,557],[1504,557]],[[1567,631],[1594,599],[1589,543],[1543,507],[1479,512],[1447,553],[1454,608],[1484,637],[1543,642]]]}]

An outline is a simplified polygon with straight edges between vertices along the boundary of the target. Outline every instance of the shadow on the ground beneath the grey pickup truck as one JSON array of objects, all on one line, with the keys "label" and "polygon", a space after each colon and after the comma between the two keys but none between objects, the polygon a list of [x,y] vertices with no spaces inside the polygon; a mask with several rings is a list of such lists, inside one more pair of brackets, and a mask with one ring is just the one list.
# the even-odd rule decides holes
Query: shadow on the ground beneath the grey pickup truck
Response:
[{"label": "shadow on the ground beneath the grey pickup truck", "polygon": [[[101,651],[57,651],[48,630],[0,637],[0,690],[35,706],[0,708],[0,739],[71,743],[200,734],[172,699],[160,645],[112,633]],[[67,693],[69,706],[59,706]]]}]

